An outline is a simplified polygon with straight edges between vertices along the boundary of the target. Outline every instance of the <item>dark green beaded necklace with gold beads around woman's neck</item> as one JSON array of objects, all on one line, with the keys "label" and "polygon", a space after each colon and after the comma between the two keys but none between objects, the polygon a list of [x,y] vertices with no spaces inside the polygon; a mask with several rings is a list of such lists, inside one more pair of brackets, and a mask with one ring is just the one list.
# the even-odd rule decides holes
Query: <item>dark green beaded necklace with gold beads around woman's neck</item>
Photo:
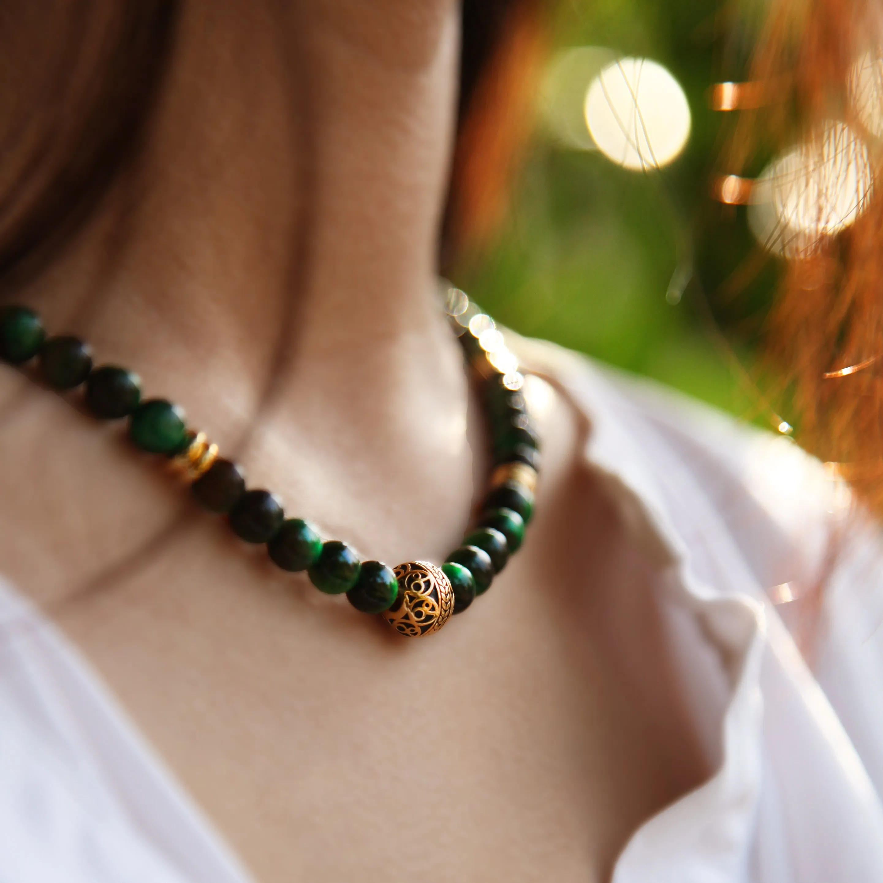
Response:
[{"label": "dark green beaded necklace with gold beads around woman's neck", "polygon": [[321,592],[345,593],[357,610],[381,615],[400,635],[420,638],[487,592],[521,546],[540,468],[539,438],[522,394],[525,378],[501,332],[463,291],[450,288],[445,308],[480,385],[495,465],[479,518],[441,565],[411,561],[390,568],[360,561],[346,543],[323,540],[309,522],[286,517],[279,497],[247,488],[240,467],[220,457],[205,433],[189,428],[181,408],[163,398],[142,400],[137,374],[94,367],[87,343],[46,336],[40,317],[25,306],[0,309],[0,358],[18,366],[36,358],[42,380],[58,391],[81,389],[94,417],[128,419],[135,446],[168,457],[196,500],[226,517],[240,539],[266,544],[282,570],[306,570]]}]

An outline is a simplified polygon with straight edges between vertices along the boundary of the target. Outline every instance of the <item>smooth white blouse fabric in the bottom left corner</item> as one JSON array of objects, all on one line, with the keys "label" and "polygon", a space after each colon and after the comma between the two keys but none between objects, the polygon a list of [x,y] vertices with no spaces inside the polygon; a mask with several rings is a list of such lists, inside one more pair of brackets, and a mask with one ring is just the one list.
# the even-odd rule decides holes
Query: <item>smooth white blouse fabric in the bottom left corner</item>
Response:
[{"label": "smooth white blouse fabric in the bottom left corner", "polygon": [[247,883],[98,676],[2,581],[0,636],[0,883]]}]

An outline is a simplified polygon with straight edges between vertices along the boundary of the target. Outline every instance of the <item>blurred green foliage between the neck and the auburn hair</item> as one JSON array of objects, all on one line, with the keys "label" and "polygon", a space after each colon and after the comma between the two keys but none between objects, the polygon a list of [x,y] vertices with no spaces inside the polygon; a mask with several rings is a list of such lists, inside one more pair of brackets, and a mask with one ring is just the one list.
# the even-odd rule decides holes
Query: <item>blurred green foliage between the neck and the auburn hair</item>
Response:
[{"label": "blurred green foliage between the neck and the auburn hair", "polygon": [[[608,47],[668,67],[690,104],[690,140],[670,166],[644,174],[598,151],[562,147],[538,129],[494,245],[450,275],[522,334],[768,426],[733,357],[751,373],[776,268],[755,259],[757,273],[728,283],[754,244],[743,209],[710,197],[728,121],[706,96],[712,82],[743,74],[741,47],[750,41],[732,26],[721,37],[717,14],[706,0],[560,5],[558,48]],[[691,282],[673,305],[666,294],[679,264],[691,268]]]}]

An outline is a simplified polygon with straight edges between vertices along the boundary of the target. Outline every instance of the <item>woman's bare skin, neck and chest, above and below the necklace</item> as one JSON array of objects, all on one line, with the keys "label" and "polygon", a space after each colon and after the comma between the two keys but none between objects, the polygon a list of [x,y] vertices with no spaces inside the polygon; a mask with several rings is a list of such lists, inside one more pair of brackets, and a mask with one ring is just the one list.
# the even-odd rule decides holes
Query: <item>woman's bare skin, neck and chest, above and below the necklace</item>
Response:
[{"label": "woman's bare skin, neck and chest, above and below the necklace", "polygon": [[[388,562],[442,560],[487,465],[434,301],[457,39],[449,0],[190,4],[127,235],[121,190],[23,294]],[[262,883],[606,879],[707,774],[606,639],[600,596],[661,562],[580,464],[561,396],[524,550],[419,642],[274,570],[21,374],[0,371],[0,407],[4,575]]]}]

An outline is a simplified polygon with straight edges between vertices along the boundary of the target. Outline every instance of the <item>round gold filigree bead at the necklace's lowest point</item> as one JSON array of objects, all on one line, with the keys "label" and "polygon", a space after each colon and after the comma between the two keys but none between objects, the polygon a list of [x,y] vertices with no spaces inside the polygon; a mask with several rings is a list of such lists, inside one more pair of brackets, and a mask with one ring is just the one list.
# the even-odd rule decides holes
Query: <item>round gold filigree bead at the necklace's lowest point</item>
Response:
[{"label": "round gold filigree bead at the necklace's lowest point", "polygon": [[399,564],[398,597],[381,615],[400,634],[422,638],[442,628],[454,612],[454,590],[441,567],[427,561]]}]

